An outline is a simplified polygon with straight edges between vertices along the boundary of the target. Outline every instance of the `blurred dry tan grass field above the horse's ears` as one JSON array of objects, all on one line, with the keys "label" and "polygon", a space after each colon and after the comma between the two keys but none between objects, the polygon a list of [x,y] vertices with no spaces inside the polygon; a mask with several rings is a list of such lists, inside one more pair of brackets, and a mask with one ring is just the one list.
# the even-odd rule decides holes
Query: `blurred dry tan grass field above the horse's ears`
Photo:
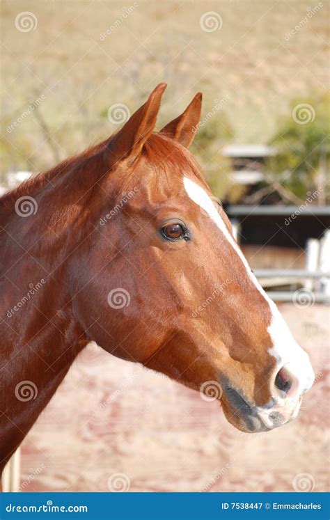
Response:
[{"label": "blurred dry tan grass field above the horse's ears", "polygon": [[[204,113],[224,100],[214,117],[230,139],[267,142],[292,97],[304,100],[327,86],[329,3],[317,6],[299,0],[3,0],[3,171],[39,171],[108,136],[118,128],[107,118],[109,107],[123,103],[134,111],[161,81],[168,90],[160,123],[203,90]],[[26,10],[34,15],[31,30],[18,30],[16,17]],[[209,11],[217,24],[212,32],[212,21],[201,29]]]}]

